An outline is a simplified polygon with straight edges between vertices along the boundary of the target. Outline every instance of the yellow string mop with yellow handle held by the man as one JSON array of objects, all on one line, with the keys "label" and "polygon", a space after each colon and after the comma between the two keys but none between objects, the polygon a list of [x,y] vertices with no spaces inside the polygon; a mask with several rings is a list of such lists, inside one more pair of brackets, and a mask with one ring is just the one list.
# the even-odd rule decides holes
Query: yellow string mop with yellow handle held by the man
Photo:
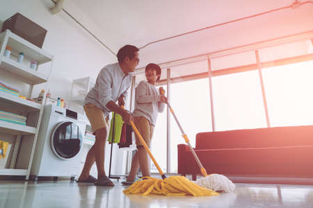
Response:
[{"label": "yellow string mop with yellow handle held by the man", "polygon": [[128,189],[125,189],[123,193],[141,194],[143,196],[147,196],[148,194],[165,196],[218,196],[219,193],[216,191],[200,187],[198,184],[191,182],[186,177],[175,175],[167,178],[157,161],[154,159],[149,147],[145,144],[145,140],[141,136],[133,121],[131,121],[131,126],[138,138],[141,140],[145,150],[150,155],[150,158],[157,167],[162,179],[142,177],[141,180],[134,182],[134,184],[132,184]]}]

